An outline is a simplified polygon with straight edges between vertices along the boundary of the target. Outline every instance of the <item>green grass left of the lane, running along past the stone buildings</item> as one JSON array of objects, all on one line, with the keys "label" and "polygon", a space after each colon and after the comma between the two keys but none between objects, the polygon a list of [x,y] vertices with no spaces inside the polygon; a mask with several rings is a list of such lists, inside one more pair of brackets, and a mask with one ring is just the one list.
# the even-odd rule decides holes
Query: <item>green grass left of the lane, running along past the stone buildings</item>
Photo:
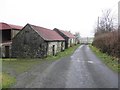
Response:
[{"label": "green grass left of the lane, running along past the stone buildings", "polygon": [[[44,61],[54,61],[62,57],[69,56],[80,46],[80,44],[65,49],[63,52],[59,52],[56,56],[48,56],[44,59],[17,59],[17,58],[4,58],[2,61],[2,88],[9,88],[15,84],[16,76],[28,71],[33,66],[40,64]],[[15,76],[11,76],[11,71],[15,73]]]}]

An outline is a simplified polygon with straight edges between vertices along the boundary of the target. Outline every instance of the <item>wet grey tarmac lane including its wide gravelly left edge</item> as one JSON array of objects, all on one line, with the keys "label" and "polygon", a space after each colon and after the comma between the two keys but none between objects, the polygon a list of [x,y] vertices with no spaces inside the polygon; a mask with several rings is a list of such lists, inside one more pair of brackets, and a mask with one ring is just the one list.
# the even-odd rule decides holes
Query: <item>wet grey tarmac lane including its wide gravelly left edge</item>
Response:
[{"label": "wet grey tarmac lane including its wide gravelly left edge", "polygon": [[118,74],[81,45],[72,56],[19,75],[13,88],[118,88]]}]

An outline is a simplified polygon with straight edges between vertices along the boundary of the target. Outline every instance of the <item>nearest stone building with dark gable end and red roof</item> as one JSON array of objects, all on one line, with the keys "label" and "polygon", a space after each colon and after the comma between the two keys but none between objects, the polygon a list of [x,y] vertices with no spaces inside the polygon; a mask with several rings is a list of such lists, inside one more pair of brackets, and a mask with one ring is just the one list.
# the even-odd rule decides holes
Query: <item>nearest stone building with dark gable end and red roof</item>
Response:
[{"label": "nearest stone building with dark gable end and red roof", "polygon": [[43,58],[64,50],[64,38],[54,30],[27,24],[12,41],[12,57]]}]

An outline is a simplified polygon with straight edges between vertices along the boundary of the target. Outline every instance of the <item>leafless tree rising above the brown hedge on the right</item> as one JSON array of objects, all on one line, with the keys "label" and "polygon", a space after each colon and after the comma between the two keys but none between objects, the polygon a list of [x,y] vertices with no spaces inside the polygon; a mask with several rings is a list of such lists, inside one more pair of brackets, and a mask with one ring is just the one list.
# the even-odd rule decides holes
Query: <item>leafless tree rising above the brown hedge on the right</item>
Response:
[{"label": "leafless tree rising above the brown hedge on the right", "polygon": [[102,17],[98,17],[98,25],[95,30],[95,36],[114,30],[114,18],[111,16],[111,9],[102,11],[102,13]]}]

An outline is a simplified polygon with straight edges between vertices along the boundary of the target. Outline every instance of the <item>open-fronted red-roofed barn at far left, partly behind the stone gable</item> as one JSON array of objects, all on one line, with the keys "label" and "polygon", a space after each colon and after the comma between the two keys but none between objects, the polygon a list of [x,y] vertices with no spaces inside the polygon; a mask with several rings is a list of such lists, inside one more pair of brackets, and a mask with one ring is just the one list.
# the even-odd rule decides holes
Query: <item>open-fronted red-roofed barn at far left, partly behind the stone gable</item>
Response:
[{"label": "open-fronted red-roofed barn at far left, partly behind the stone gable", "polygon": [[10,57],[12,38],[22,29],[22,26],[0,23],[0,57]]}]

